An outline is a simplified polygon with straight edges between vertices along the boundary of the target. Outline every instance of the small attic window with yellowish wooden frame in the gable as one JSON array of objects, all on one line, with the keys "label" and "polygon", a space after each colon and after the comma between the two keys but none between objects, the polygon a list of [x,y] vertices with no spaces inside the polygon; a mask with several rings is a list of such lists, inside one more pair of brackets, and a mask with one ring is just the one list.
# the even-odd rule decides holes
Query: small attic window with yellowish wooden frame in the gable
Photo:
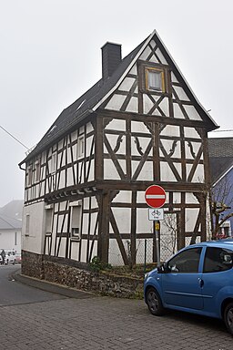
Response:
[{"label": "small attic window with yellowish wooden frame in the gable", "polygon": [[146,88],[158,92],[165,92],[165,74],[160,68],[146,68]]}]

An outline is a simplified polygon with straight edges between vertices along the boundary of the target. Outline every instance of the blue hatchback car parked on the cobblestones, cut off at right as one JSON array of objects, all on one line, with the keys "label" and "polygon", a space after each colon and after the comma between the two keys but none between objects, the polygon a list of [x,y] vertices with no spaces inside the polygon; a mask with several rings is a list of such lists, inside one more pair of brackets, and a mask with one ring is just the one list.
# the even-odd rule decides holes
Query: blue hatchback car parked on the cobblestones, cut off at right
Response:
[{"label": "blue hatchback car parked on the cobblestones, cut off at right", "polygon": [[151,314],[165,309],[221,318],[233,335],[233,240],[189,245],[145,275]]}]

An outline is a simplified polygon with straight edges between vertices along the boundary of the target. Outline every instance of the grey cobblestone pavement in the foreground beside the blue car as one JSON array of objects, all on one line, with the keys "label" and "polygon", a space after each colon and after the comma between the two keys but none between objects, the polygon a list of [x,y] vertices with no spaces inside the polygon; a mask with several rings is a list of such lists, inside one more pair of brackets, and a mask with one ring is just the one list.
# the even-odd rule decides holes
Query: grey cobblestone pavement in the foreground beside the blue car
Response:
[{"label": "grey cobblestone pavement in the foreground beside the blue car", "polygon": [[143,301],[64,298],[1,306],[1,349],[229,350],[233,338],[218,320],[148,313]]}]

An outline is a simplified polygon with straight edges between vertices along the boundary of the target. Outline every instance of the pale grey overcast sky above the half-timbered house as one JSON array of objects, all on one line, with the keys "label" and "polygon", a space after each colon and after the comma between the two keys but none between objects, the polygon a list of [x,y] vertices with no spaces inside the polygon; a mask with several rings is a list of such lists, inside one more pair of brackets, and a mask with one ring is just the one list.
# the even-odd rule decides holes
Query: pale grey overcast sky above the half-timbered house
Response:
[{"label": "pale grey overcast sky above the half-timbered house", "polygon": [[[0,127],[32,148],[101,77],[106,41],[125,57],[156,29],[220,129],[233,129],[232,15],[232,0],[0,0]],[[1,128],[0,207],[24,198],[26,150]]]}]

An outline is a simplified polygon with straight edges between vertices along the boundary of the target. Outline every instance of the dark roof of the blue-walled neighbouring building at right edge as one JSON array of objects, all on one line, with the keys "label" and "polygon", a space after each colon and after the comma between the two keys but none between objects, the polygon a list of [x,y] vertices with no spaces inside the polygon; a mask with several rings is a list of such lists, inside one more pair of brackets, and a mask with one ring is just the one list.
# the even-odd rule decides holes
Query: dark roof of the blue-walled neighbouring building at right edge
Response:
[{"label": "dark roof of the blue-walled neighbouring building at right edge", "polygon": [[212,183],[233,169],[233,138],[208,139]]}]

